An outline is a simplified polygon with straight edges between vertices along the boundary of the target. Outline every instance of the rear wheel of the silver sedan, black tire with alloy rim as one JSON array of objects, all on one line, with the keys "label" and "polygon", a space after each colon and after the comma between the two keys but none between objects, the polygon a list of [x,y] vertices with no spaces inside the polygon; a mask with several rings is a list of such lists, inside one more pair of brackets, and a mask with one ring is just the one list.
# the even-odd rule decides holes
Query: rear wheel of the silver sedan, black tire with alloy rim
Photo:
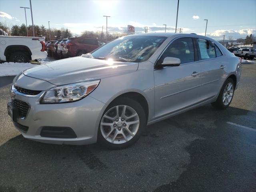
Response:
[{"label": "rear wheel of the silver sedan, black tire with alloy rim", "polygon": [[[230,87],[230,90],[227,91],[227,88],[229,88],[230,84],[232,84],[232,87]],[[234,97],[234,91],[235,91],[234,81],[232,80],[232,78],[228,78],[223,84],[216,102],[213,102],[212,106],[214,106],[216,109],[226,109],[232,102],[232,99]]]}]

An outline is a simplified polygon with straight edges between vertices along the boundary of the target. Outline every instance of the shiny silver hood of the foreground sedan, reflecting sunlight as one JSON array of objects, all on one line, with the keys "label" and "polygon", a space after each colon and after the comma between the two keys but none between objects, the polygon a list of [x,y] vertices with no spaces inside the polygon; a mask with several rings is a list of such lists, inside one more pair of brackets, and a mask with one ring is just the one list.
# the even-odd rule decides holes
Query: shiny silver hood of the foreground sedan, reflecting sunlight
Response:
[{"label": "shiny silver hood of the foreground sedan, reflecting sunlight", "polygon": [[137,69],[138,63],[111,62],[80,56],[42,64],[23,71],[23,74],[54,85],[64,85],[127,74]]}]

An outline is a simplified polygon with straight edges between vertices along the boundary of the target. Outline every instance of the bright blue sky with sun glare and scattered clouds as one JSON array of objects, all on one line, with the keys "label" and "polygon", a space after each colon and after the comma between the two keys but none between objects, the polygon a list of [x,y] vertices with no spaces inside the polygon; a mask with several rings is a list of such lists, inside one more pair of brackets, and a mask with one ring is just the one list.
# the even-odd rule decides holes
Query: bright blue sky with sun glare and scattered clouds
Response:
[{"label": "bright blue sky with sun glare and scattered clouds", "polygon": [[[85,30],[124,32],[127,25],[135,33],[175,32],[178,0],[32,0],[35,25],[48,28],[68,28],[79,36]],[[26,24],[22,7],[30,7],[29,0],[0,0],[0,22],[8,25]],[[32,24],[30,10],[26,10],[28,25]],[[205,34],[216,40],[223,35],[232,38],[256,36],[256,0],[180,0],[177,28],[182,33]]]}]

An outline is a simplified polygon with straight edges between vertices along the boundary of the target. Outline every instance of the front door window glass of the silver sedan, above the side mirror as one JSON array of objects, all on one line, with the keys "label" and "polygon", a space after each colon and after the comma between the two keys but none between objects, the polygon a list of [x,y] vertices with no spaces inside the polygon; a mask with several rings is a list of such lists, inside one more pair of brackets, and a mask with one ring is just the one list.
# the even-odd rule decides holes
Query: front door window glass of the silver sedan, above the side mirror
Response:
[{"label": "front door window glass of the silver sedan, above the side mirror", "polygon": [[179,58],[181,63],[195,61],[192,38],[180,38],[172,42],[164,51],[160,60],[163,61],[166,57]]}]

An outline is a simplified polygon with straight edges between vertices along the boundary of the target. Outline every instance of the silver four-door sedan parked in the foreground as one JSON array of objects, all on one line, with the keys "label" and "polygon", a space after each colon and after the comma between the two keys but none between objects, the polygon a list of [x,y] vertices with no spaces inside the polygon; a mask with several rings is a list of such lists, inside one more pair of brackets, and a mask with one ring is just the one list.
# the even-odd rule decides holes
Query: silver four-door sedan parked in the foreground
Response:
[{"label": "silver four-door sedan parked in the foreground", "polygon": [[195,34],[135,34],[13,80],[8,113],[25,138],[124,148],[146,125],[212,103],[229,106],[241,58]]}]

